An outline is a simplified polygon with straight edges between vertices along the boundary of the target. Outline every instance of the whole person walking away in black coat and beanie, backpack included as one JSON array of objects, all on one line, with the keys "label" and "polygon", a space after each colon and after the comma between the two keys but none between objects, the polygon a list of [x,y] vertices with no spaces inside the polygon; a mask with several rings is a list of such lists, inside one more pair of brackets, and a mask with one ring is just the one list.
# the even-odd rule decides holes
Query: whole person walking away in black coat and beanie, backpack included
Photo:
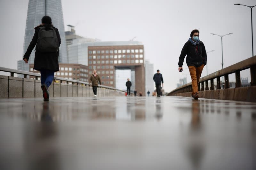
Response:
[{"label": "whole person walking away in black coat and beanie, backpack included", "polygon": [[23,60],[28,63],[32,50],[35,49],[34,69],[41,73],[41,89],[44,101],[49,101],[49,87],[52,84],[54,72],[59,71],[60,33],[52,25],[52,18],[44,16],[42,24],[35,27],[34,36],[28,46]]}]

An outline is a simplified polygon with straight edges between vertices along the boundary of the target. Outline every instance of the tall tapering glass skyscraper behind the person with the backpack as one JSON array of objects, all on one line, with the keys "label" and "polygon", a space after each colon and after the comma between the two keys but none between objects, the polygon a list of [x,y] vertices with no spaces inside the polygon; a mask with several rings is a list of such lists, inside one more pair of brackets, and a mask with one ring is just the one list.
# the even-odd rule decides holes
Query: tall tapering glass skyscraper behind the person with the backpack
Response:
[{"label": "tall tapering glass skyscraper behind the person with the backpack", "polygon": [[[52,25],[58,28],[60,32],[61,45],[59,62],[68,63],[61,0],[29,0],[25,38],[23,44],[23,55],[26,53],[28,45],[33,38],[35,33],[34,28],[41,24],[41,19],[45,15],[48,15],[52,18]],[[29,64],[34,64],[34,50],[30,55]],[[25,64],[24,61],[18,61],[18,70],[29,71],[29,64]]]}]

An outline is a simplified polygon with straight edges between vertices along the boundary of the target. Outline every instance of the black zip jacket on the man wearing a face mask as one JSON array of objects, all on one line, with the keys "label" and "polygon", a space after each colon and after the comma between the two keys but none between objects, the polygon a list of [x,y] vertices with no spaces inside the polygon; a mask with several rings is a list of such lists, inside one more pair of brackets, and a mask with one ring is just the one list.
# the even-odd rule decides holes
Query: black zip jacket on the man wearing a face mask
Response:
[{"label": "black zip jacket on the man wearing a face mask", "polygon": [[194,45],[192,42],[193,40],[190,38],[188,42],[186,42],[183,46],[178,63],[179,67],[182,67],[186,55],[186,63],[188,67],[200,67],[202,64],[206,65],[207,55],[204,43],[199,40],[198,42],[196,42],[196,45]]}]

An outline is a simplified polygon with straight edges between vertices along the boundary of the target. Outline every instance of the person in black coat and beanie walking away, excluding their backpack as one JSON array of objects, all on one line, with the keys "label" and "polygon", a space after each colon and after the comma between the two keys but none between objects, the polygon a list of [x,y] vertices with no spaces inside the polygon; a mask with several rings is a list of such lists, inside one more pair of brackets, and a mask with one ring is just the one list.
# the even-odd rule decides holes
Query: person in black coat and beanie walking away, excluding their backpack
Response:
[{"label": "person in black coat and beanie walking away, excluding their backpack", "polygon": [[28,46],[26,53],[24,54],[23,60],[26,63],[28,63],[29,56],[32,53],[32,50],[34,49],[34,47],[36,46],[34,69],[40,71],[41,73],[41,84],[42,84],[41,88],[43,90],[44,101],[49,101],[48,88],[50,87],[53,81],[54,72],[59,71],[59,62],[58,62],[59,49],[57,49],[56,52],[51,52],[51,53],[39,52],[37,47],[38,32],[42,27],[45,27],[46,31],[51,30],[53,28],[58,38],[59,47],[60,47],[61,39],[60,39],[60,33],[58,29],[52,25],[51,17],[44,16],[41,21],[42,21],[42,24],[35,27],[35,34]]}]

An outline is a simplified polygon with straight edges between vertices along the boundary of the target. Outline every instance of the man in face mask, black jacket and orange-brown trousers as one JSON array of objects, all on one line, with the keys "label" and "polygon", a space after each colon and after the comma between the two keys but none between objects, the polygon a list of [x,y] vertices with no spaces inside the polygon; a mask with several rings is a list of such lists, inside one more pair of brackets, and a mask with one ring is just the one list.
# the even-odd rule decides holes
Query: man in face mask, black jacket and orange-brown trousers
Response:
[{"label": "man in face mask, black jacket and orange-brown trousers", "polygon": [[180,58],[179,58],[179,71],[183,70],[182,65],[185,56],[186,63],[188,65],[189,73],[192,80],[192,94],[194,99],[198,99],[198,83],[201,77],[204,66],[207,62],[207,55],[204,47],[204,43],[199,40],[199,31],[193,30],[190,33],[188,42],[183,46]]}]

